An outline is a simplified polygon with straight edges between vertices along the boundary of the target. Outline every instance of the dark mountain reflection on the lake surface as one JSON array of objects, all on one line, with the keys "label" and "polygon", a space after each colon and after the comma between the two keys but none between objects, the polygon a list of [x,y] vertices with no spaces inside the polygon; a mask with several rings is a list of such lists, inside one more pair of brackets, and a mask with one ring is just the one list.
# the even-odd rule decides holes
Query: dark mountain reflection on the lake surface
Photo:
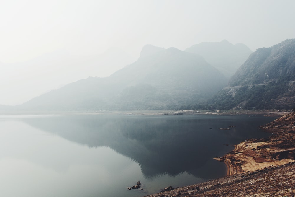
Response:
[{"label": "dark mountain reflection on the lake surface", "polygon": [[[271,120],[207,115],[65,115],[22,119],[78,144],[110,147],[138,162],[146,178],[186,172],[202,179],[225,174],[225,166],[212,159],[232,149],[224,144],[266,136],[257,128]],[[237,127],[228,131],[218,129],[229,125]]]}]

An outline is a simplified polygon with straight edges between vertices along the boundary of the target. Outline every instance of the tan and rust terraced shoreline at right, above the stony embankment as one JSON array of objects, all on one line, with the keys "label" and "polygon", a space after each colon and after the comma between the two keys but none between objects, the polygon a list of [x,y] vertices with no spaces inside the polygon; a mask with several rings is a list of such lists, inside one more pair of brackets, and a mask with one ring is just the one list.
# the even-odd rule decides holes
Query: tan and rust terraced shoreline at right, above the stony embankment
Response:
[{"label": "tan and rust terraced shoreline at right, above the stony embankment", "polygon": [[290,113],[261,126],[263,131],[274,135],[243,141],[235,145],[234,150],[220,157],[219,161],[227,166],[227,175],[253,172],[270,166],[295,162],[295,134],[292,130],[295,128],[294,118],[295,113]]}]

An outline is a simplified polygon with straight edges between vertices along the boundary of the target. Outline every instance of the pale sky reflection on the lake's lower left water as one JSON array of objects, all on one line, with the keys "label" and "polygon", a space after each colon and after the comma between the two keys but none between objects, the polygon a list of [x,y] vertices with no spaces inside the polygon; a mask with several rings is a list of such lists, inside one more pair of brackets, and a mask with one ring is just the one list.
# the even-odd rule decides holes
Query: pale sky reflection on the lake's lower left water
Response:
[{"label": "pale sky reflection on the lake's lower left water", "polygon": [[110,148],[90,149],[16,120],[0,119],[0,128],[1,196],[130,196],[130,179],[141,177],[139,165]]}]

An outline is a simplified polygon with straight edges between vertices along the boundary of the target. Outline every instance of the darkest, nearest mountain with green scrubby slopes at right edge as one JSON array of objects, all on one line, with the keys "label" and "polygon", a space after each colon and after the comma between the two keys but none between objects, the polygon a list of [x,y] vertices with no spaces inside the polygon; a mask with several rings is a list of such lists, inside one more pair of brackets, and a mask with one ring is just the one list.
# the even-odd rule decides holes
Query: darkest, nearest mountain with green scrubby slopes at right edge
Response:
[{"label": "darkest, nearest mountain with green scrubby slopes at right edge", "polygon": [[252,53],[211,104],[219,109],[291,109],[295,102],[295,39]]}]

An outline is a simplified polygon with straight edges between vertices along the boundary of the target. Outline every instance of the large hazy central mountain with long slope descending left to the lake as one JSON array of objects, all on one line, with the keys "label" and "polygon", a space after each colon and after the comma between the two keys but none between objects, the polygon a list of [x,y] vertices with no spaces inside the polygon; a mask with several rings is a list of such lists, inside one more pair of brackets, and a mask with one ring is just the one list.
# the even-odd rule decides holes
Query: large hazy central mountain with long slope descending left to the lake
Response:
[{"label": "large hazy central mountain with long slope descending left to the lake", "polygon": [[149,55],[143,55],[109,77],[89,77],[73,82],[35,97],[18,108],[23,110],[194,108],[212,97],[226,84],[226,78],[201,56],[176,48],[155,50],[155,53],[150,51]]}]

